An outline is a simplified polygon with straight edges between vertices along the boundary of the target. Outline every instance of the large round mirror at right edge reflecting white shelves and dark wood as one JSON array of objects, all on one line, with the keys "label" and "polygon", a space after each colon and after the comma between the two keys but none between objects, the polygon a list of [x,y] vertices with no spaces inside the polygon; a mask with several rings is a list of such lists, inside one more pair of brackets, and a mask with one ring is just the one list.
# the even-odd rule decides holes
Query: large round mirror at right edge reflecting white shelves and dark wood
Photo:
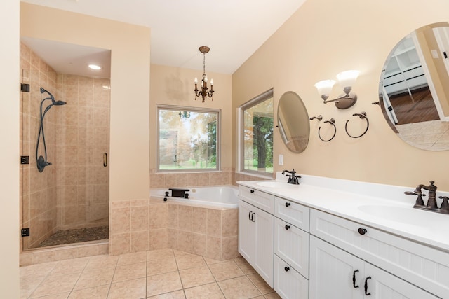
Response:
[{"label": "large round mirror at right edge reflecting white shelves and dark wood", "polygon": [[449,149],[449,23],[416,29],[391,50],[380,106],[394,132],[428,151]]}]

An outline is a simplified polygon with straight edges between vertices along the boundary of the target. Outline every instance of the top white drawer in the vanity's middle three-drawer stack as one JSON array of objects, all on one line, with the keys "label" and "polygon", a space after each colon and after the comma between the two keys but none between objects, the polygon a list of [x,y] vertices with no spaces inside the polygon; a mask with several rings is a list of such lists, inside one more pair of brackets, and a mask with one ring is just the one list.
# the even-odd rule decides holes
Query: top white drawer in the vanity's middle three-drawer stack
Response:
[{"label": "top white drawer in the vanity's middle three-drawer stack", "polygon": [[309,231],[309,213],[310,209],[302,204],[284,200],[280,197],[274,199],[274,216],[306,232]]}]

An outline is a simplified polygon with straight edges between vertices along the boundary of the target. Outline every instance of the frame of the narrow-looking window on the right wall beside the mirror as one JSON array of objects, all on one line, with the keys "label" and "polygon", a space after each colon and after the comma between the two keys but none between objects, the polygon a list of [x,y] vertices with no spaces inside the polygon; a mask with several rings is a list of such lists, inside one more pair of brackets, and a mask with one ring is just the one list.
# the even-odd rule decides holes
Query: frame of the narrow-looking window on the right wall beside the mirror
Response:
[{"label": "frame of the narrow-looking window on the right wall beside the mirror", "polygon": [[[244,155],[244,151],[245,151],[245,141],[243,140],[244,138],[244,120],[245,120],[245,111],[247,109],[250,109],[253,106],[256,106],[257,104],[260,104],[264,101],[266,101],[267,99],[272,99],[273,101],[273,133],[274,133],[274,91],[273,88],[267,90],[266,92],[263,92],[262,94],[258,95],[257,97],[254,97],[253,99],[250,99],[248,102],[241,104],[241,106],[239,106],[238,109],[238,118],[239,118],[239,153],[238,153],[238,162],[237,165],[239,165],[239,172],[244,173],[244,174],[250,174],[253,176],[261,176],[261,177],[269,177],[272,178],[273,174],[274,174],[274,157],[273,157],[273,172],[262,172],[260,170],[251,170],[251,169],[245,169],[245,155]],[[274,140],[273,140],[273,144],[272,144],[272,148],[273,148],[273,155],[274,155]]]}]

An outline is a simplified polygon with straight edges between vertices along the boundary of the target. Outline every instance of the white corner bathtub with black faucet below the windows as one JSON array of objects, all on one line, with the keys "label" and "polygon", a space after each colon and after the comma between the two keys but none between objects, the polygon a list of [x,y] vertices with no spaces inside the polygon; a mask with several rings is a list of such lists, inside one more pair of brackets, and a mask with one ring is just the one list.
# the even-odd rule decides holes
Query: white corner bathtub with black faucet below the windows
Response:
[{"label": "white corner bathtub with black faucet below the windows", "polygon": [[185,192],[189,194],[189,198],[171,197],[171,191],[168,188],[153,188],[149,190],[150,199],[163,200],[166,198],[167,202],[184,202],[192,205],[205,205],[223,208],[239,207],[239,188],[232,185],[226,186],[211,186],[211,187],[192,187],[180,189],[188,189]]}]

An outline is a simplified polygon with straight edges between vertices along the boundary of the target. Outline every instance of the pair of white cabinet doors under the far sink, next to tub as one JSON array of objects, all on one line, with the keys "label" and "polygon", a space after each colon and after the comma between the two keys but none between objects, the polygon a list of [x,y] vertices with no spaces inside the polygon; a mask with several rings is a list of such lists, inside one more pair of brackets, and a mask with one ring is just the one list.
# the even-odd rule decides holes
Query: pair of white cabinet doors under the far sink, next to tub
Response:
[{"label": "pair of white cabinet doors under the far sink, next to tub", "polygon": [[274,216],[239,202],[239,253],[273,287]]}]

